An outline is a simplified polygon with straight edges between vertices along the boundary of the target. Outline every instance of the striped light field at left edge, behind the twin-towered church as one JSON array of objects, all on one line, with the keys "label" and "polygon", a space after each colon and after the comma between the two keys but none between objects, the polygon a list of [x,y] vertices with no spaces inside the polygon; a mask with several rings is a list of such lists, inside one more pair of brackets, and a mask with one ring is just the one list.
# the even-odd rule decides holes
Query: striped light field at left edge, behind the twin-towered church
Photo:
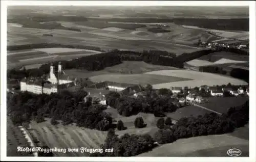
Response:
[{"label": "striped light field at left edge, behind the twin-towered church", "polygon": [[25,65],[76,59],[82,56],[95,55],[99,51],[75,48],[37,48],[30,50],[8,51],[8,68]]}]

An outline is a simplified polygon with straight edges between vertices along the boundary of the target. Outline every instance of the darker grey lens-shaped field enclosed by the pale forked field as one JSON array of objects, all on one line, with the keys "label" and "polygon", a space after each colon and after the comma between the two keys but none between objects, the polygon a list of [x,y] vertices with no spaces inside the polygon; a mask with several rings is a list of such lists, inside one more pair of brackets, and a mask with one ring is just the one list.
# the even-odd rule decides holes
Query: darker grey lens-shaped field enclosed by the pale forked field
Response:
[{"label": "darker grey lens-shaped field enclosed by the pale forked field", "polygon": [[166,82],[179,82],[182,80],[189,80],[188,78],[175,77],[175,76],[164,76],[155,74],[105,74],[90,77],[92,82],[118,82],[118,83],[129,83],[134,85],[147,85],[147,84],[160,84]]}]

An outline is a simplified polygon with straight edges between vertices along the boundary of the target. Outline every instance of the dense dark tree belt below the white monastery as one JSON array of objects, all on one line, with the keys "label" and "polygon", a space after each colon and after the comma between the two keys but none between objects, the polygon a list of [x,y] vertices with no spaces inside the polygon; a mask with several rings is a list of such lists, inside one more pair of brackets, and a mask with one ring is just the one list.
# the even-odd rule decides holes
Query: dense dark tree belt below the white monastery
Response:
[{"label": "dense dark tree belt below the white monastery", "polygon": [[[84,96],[88,93],[80,90],[75,93],[63,91],[61,94],[32,94],[19,92],[7,94],[7,115],[15,125],[35,120],[37,123],[51,118],[53,125],[58,120],[63,125],[76,123],[90,129],[108,130],[113,126],[112,117],[105,113],[106,106],[98,101],[88,98],[84,102]],[[93,101],[93,102],[92,102]]]}]

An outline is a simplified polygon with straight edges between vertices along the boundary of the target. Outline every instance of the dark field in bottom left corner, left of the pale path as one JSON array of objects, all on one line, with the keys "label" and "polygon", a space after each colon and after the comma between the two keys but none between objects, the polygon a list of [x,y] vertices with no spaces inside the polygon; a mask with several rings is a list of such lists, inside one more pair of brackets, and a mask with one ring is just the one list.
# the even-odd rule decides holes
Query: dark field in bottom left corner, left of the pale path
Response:
[{"label": "dark field in bottom left corner, left of the pale path", "polygon": [[7,156],[33,156],[26,152],[17,152],[17,147],[29,147],[24,134],[7,118]]}]

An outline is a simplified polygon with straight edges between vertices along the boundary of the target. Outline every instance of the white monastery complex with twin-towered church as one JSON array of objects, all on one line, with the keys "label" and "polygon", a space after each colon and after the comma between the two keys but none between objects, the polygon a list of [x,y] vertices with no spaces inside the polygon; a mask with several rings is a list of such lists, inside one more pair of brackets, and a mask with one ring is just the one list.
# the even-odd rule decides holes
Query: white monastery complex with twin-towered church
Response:
[{"label": "white monastery complex with twin-towered church", "polygon": [[20,91],[28,91],[35,94],[58,93],[70,87],[81,89],[81,82],[76,77],[70,77],[62,71],[62,64],[58,64],[55,71],[53,64],[50,66],[50,73],[41,78],[24,78],[20,81]]}]

